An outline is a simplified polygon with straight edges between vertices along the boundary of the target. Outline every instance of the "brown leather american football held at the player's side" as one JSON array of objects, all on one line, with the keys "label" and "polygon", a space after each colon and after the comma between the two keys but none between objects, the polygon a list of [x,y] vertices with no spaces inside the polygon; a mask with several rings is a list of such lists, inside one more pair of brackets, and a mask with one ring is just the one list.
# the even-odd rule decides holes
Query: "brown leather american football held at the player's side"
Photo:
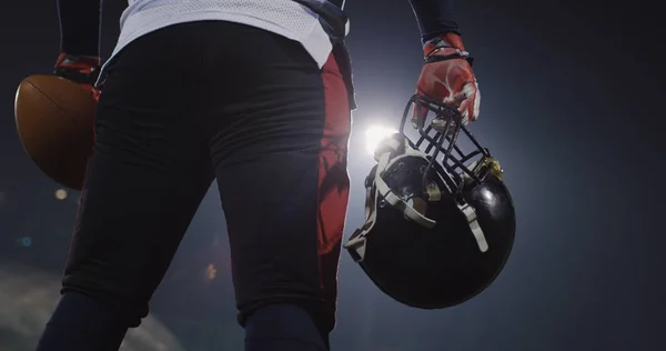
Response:
[{"label": "brown leather american football held at the player's side", "polygon": [[80,190],[94,140],[97,101],[79,84],[46,74],[19,84],[17,131],[32,161],[58,183]]}]

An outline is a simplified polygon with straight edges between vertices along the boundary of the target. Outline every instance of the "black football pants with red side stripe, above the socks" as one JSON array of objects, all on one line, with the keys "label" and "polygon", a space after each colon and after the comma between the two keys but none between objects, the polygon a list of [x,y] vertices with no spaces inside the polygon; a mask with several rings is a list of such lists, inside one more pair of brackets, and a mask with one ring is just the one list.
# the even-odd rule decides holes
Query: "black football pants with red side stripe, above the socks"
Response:
[{"label": "black football pants with red side stripe, above the socks", "polygon": [[331,331],[350,187],[339,62],[320,69],[295,41],[194,22],[130,43],[101,89],[64,295],[139,325],[215,179],[240,323],[297,304]]}]

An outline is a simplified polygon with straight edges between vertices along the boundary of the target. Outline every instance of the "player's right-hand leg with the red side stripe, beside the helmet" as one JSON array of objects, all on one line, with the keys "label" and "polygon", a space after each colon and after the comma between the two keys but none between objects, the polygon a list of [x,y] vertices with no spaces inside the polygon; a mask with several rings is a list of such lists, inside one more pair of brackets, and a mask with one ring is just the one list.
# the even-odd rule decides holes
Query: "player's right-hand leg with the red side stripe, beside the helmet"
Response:
[{"label": "player's right-hand leg with the red side stripe, beside the helmet", "polygon": [[224,54],[244,64],[224,73],[238,86],[220,101],[212,147],[246,350],[326,350],[349,195],[347,91],[332,58],[322,71],[297,42],[233,37],[242,40]]}]

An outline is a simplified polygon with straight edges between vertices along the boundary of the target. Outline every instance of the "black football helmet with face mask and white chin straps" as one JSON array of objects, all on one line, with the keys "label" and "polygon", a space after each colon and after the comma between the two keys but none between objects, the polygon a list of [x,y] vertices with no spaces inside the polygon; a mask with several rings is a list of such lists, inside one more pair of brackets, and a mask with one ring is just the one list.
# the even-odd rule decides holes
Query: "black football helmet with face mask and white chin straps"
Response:
[{"label": "black football helmet with face mask and white chin straps", "polygon": [[[404,130],[412,108],[416,142]],[[384,293],[415,308],[452,307],[487,288],[511,253],[515,211],[498,161],[461,113],[413,96],[374,158],[365,223],[344,243],[354,261]]]}]

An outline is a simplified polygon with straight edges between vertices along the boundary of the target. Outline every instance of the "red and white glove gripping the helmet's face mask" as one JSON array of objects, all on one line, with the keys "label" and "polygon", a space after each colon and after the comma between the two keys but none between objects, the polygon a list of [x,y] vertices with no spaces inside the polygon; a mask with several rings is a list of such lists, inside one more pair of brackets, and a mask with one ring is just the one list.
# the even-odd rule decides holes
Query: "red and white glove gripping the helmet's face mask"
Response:
[{"label": "red and white glove gripping the helmet's face mask", "polygon": [[[428,41],[423,47],[425,63],[416,84],[416,93],[442,101],[456,108],[462,117],[463,124],[478,118],[481,96],[478,84],[468,62],[468,56],[461,37],[447,33]],[[417,111],[414,111],[412,124],[416,127]],[[427,109],[422,111],[425,118]],[[444,127],[445,121],[433,121]]]}]

